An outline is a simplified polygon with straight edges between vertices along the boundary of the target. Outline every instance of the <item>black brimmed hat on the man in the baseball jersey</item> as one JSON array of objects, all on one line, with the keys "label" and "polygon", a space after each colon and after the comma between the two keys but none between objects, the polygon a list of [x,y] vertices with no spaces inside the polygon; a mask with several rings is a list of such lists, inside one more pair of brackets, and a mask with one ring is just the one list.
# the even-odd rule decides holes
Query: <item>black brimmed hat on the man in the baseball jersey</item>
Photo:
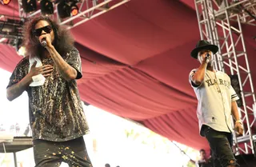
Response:
[{"label": "black brimmed hat on the man in the baseball jersey", "polygon": [[210,42],[207,42],[206,40],[201,40],[197,43],[194,50],[191,51],[190,55],[192,58],[198,58],[198,52],[200,50],[210,50],[213,52],[213,54],[216,54],[218,52],[218,46],[211,45]]}]

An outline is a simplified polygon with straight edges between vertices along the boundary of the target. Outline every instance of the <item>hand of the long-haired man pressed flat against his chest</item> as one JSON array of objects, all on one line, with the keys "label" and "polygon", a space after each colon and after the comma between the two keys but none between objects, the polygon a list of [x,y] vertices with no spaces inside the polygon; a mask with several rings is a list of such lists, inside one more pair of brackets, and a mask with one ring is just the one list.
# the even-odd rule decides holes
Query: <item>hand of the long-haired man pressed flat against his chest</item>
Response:
[{"label": "hand of the long-haired man pressed flat against his chest", "polygon": [[45,65],[45,66],[39,66],[36,67],[37,62],[34,62],[34,64],[30,68],[30,76],[33,77],[38,74],[42,74],[45,78],[50,76],[50,73],[53,71],[53,66],[51,65]]}]

